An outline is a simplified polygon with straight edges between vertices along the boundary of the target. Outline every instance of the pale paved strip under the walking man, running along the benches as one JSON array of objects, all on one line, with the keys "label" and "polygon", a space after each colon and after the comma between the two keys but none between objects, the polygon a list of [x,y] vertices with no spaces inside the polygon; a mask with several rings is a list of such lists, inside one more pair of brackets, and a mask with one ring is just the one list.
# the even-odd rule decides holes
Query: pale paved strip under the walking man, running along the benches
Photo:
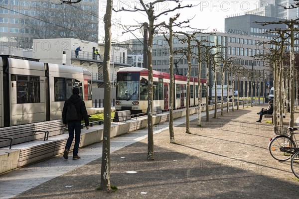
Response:
[{"label": "pale paved strip under the walking man, running along the benches", "polygon": [[[202,113],[205,115],[205,112]],[[190,120],[196,119],[197,115],[190,115]],[[183,124],[185,118],[179,118],[174,121],[174,126]],[[97,126],[90,129],[97,129]],[[154,126],[154,134],[168,128],[168,122]],[[125,135],[111,139],[111,153],[125,146],[138,142],[148,136],[148,129],[141,129]],[[16,169],[0,177],[0,199],[9,199],[15,197],[29,189],[32,189],[42,183],[61,176],[76,168],[84,166],[98,158],[102,157],[102,143],[90,145],[79,150],[80,160],[72,160],[71,153],[68,160],[64,160],[62,155]],[[12,163],[13,164],[13,163]]]}]

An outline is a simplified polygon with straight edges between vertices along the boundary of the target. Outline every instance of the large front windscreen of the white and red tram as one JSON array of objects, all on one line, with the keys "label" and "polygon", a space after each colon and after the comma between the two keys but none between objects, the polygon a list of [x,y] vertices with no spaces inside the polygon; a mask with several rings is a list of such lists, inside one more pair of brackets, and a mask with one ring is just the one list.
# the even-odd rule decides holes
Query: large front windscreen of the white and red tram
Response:
[{"label": "large front windscreen of the white and red tram", "polygon": [[139,73],[118,73],[116,100],[139,100]]}]

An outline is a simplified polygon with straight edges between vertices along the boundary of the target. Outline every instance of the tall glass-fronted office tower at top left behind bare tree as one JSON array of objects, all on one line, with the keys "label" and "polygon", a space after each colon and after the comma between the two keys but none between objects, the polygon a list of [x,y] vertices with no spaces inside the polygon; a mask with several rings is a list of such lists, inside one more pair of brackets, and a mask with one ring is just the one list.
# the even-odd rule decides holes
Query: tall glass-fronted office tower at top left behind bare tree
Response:
[{"label": "tall glass-fronted office tower at top left behind bare tree", "polygon": [[78,38],[98,42],[98,0],[0,0],[0,45],[32,48],[33,39]]}]

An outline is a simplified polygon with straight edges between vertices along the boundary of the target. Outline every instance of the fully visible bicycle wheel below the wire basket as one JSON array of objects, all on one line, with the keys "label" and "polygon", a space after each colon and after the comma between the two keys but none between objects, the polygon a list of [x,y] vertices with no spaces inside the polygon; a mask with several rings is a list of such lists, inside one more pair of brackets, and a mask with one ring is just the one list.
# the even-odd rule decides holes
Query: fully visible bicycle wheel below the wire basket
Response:
[{"label": "fully visible bicycle wheel below the wire basket", "polygon": [[[291,145],[292,143],[292,145]],[[272,157],[279,161],[286,161],[291,158],[290,147],[295,147],[295,142],[290,140],[290,136],[279,135],[274,137],[269,143],[269,151]],[[284,148],[288,147],[288,148]]]}]

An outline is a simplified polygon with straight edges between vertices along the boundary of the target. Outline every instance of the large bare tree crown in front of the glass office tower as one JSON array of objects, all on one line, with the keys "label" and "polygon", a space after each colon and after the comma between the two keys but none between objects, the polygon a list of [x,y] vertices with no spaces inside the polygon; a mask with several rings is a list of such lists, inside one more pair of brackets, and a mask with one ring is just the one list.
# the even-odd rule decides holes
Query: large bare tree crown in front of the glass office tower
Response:
[{"label": "large bare tree crown in front of the glass office tower", "polygon": [[[94,10],[87,12],[74,5],[75,1],[62,3],[67,4],[59,5],[59,11],[51,6],[53,2],[46,7],[40,4],[36,7],[36,17],[27,16],[24,19],[23,27],[28,29],[32,39],[72,37],[98,42],[98,9],[94,6]],[[90,5],[92,7],[95,4]]]}]

